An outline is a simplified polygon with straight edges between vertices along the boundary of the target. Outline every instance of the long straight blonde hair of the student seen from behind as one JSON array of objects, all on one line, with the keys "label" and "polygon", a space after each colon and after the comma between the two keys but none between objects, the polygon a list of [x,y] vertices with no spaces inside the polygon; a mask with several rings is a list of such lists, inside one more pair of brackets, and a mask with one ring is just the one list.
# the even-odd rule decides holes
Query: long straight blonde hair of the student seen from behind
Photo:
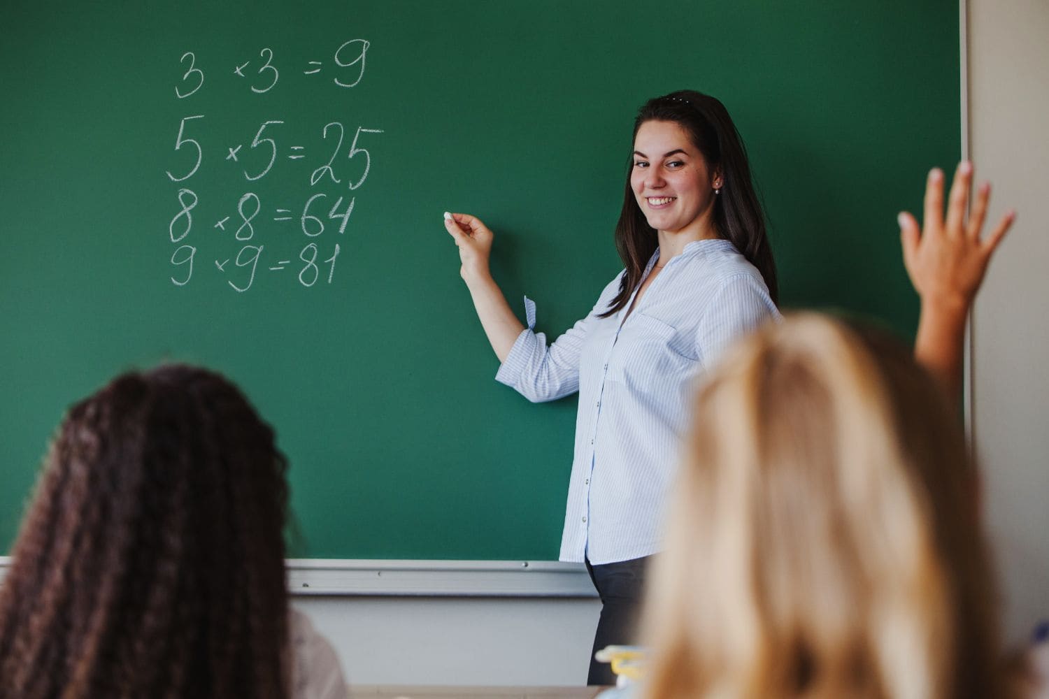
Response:
[{"label": "long straight blonde hair of the student seen from behind", "polygon": [[654,564],[648,695],[1004,696],[975,474],[932,378],[815,313],[726,357]]}]

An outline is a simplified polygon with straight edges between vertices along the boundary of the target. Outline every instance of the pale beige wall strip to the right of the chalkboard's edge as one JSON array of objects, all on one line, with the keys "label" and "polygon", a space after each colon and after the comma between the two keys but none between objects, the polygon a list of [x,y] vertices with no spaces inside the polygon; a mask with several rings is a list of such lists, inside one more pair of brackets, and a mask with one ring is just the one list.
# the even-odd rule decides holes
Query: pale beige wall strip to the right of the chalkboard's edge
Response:
[{"label": "pale beige wall strip to the right of the chalkboard's edge", "polygon": [[1019,213],[977,301],[973,437],[1013,640],[1049,618],[1049,2],[969,1],[969,146]]}]

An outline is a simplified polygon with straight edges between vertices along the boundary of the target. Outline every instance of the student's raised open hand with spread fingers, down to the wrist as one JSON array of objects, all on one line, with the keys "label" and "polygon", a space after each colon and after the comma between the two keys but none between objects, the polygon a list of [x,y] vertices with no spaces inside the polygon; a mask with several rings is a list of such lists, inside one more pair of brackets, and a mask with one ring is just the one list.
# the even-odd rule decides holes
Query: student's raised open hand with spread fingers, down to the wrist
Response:
[{"label": "student's raised open hand with spread fingers, down to the wrist", "polygon": [[900,238],[903,243],[903,264],[911,283],[921,297],[923,308],[938,311],[968,313],[987,264],[994,248],[1012,224],[1015,214],[1007,213],[986,238],[981,237],[990,184],[977,190],[972,211],[966,219],[972,163],[961,162],[955,173],[947,202],[947,218],[943,218],[943,172],[934,169],[925,184],[924,228],[911,214],[900,214]]}]

